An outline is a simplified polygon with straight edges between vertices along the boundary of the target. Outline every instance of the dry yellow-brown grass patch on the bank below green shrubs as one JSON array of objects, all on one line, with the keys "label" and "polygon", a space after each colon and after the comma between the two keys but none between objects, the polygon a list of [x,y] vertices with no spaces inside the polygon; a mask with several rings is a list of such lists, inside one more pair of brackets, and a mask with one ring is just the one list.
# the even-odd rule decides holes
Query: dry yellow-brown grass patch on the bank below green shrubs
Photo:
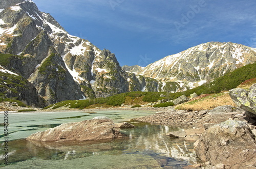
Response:
[{"label": "dry yellow-brown grass patch on the bank below green shrubs", "polygon": [[199,99],[195,98],[195,100],[191,100],[187,103],[178,105],[175,108],[183,110],[203,110],[212,109],[221,105],[236,106],[228,93],[220,93],[206,95],[205,97],[201,97]]}]

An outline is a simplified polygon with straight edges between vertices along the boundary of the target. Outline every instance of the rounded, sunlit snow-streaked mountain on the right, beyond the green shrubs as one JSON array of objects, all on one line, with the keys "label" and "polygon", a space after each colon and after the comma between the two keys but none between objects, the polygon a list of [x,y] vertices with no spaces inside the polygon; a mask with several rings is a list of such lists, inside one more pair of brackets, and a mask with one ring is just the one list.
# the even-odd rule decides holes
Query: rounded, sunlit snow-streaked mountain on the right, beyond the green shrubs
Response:
[{"label": "rounded, sunlit snow-streaked mountain on the right, beyond the green shrubs", "polygon": [[165,82],[181,80],[195,87],[255,61],[255,48],[231,42],[208,42],[169,55],[138,74]]}]

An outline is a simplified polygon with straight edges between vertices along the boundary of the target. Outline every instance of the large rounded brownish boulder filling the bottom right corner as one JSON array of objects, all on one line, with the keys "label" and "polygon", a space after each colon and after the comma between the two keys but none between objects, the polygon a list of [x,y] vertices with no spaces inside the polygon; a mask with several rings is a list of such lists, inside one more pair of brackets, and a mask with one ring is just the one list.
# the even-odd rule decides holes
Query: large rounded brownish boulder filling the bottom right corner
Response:
[{"label": "large rounded brownish boulder filling the bottom right corner", "polygon": [[209,127],[195,143],[197,156],[225,168],[256,168],[255,135],[245,122],[228,120]]}]

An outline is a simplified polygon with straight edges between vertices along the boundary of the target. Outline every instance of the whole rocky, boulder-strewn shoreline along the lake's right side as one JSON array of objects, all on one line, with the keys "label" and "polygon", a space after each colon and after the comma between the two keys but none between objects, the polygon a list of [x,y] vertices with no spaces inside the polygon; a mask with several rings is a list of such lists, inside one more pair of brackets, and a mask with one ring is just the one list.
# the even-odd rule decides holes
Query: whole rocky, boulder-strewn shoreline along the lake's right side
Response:
[{"label": "whole rocky, boulder-strewn shoreline along the lake's right side", "polygon": [[133,120],[182,126],[183,130],[169,136],[196,142],[195,151],[203,163],[191,168],[256,168],[256,84],[249,91],[230,90],[229,95],[238,107],[225,105],[201,111],[169,108]]}]

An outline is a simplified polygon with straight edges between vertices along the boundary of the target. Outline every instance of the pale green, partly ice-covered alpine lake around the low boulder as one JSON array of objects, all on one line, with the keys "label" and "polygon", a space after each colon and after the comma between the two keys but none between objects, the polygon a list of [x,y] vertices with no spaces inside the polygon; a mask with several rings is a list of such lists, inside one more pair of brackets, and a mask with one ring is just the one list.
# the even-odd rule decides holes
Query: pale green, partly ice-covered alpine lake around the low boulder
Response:
[{"label": "pale green, partly ice-covered alpine lake around the low boulder", "polygon": [[[8,165],[5,164],[4,126],[0,126],[0,167],[2,168],[182,168],[197,163],[194,142],[170,138],[166,133],[178,127],[130,122],[155,114],[146,110],[96,110],[27,112],[8,114]],[[104,142],[32,143],[30,134],[62,123],[106,116],[115,123],[129,122],[127,137]],[[4,119],[4,114],[0,114]]]}]

